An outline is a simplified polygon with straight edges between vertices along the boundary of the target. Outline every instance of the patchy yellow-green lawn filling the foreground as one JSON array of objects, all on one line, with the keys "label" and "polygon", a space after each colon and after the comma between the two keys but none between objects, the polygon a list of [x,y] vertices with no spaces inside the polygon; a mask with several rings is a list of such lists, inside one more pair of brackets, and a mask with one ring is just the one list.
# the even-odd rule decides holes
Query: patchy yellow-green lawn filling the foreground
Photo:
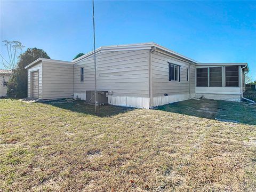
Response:
[{"label": "patchy yellow-green lawn filling the foreground", "polygon": [[[2,99],[0,191],[254,191],[255,106],[228,102],[209,115],[219,101],[208,112],[186,102],[94,115],[83,101]],[[250,121],[212,119],[242,113]]]}]

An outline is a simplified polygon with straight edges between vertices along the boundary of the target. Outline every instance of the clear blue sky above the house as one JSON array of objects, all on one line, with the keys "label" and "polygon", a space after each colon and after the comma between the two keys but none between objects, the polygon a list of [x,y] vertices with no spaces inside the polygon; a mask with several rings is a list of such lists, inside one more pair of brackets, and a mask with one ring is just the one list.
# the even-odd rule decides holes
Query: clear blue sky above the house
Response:
[{"label": "clear blue sky above the house", "polygon": [[[92,51],[91,1],[0,2],[1,42],[67,61]],[[95,33],[96,47],[156,42],[200,62],[247,62],[256,80],[256,1],[95,1]]]}]

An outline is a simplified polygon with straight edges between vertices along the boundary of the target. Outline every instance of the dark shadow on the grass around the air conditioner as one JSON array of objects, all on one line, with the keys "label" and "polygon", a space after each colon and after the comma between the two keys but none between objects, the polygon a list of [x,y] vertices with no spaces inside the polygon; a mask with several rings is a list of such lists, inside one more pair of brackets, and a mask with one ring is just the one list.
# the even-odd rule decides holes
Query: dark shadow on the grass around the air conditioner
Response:
[{"label": "dark shadow on the grass around the air conditioner", "polygon": [[126,113],[127,111],[133,110],[130,107],[118,107],[118,106],[97,106],[97,114],[95,114],[95,106],[89,105],[82,100],[73,99],[59,99],[51,101],[40,101],[46,105],[51,105],[54,107],[59,107],[61,109],[66,109],[74,111],[77,113],[82,113],[86,115],[94,115],[98,117],[110,117],[121,113]]}]

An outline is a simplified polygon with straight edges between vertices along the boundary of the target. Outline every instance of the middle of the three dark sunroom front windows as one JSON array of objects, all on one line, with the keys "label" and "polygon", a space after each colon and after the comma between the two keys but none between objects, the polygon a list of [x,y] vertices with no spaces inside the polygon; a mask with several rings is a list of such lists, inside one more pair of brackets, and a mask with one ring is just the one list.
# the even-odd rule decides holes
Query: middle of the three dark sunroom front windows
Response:
[{"label": "middle of the three dark sunroom front windows", "polygon": [[210,67],[210,86],[222,87],[222,67]]}]

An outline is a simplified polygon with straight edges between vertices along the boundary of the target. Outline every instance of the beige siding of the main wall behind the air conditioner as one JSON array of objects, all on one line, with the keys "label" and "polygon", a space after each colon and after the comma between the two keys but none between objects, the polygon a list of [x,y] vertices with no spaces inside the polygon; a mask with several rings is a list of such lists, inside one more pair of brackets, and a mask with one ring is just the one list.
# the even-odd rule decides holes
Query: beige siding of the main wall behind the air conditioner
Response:
[{"label": "beige siding of the main wall behind the air conditioner", "polygon": [[[96,55],[97,90],[113,95],[149,97],[149,50],[99,52]],[[84,82],[80,69],[84,68]],[[94,90],[94,60],[84,58],[74,65],[74,92]]]}]

